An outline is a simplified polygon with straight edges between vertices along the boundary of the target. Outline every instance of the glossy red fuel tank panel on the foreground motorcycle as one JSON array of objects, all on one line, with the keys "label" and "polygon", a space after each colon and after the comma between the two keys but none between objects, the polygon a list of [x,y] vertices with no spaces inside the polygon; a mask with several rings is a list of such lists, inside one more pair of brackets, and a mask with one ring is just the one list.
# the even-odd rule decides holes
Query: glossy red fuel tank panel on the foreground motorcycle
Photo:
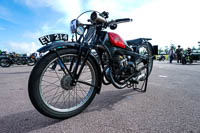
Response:
[{"label": "glossy red fuel tank panel on the foreground motorcycle", "polygon": [[127,43],[116,33],[108,32],[108,37],[110,40],[110,43],[115,47],[120,47],[123,49],[130,49],[130,47],[127,45]]}]

